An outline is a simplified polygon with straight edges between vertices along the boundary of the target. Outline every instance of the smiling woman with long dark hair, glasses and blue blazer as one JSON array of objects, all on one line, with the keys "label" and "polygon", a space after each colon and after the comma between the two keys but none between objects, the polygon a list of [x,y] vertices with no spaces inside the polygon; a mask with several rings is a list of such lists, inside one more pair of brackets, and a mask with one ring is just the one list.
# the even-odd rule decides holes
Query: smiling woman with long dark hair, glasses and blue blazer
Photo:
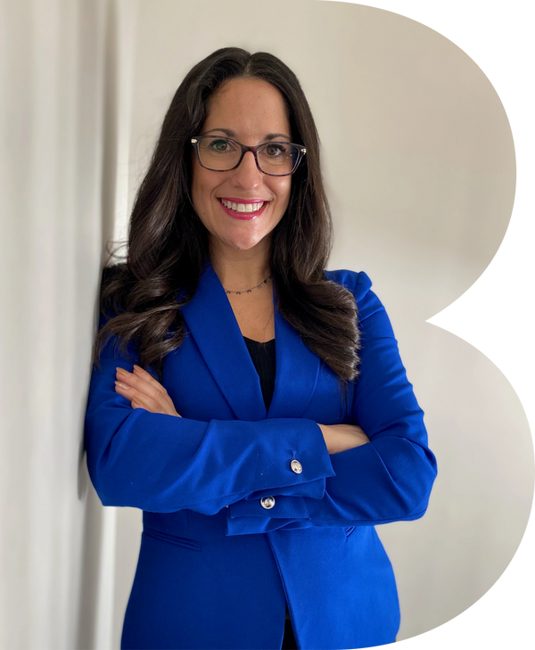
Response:
[{"label": "smiling woman with long dark hair, glasses and blue blazer", "polygon": [[423,516],[436,463],[383,305],[330,250],[299,81],[211,54],[103,278],[87,465],[104,506],[144,511],[122,650],[394,645],[374,525]]}]

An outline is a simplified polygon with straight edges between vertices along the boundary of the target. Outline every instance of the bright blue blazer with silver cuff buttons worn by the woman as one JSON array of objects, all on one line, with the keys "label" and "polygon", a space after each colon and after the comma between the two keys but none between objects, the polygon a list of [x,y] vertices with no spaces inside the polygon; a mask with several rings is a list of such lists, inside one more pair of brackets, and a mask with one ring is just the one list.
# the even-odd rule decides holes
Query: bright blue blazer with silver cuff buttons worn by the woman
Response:
[{"label": "bright blue blazer with silver cuff buttons worn by the woman", "polygon": [[[182,417],[133,409],[114,388],[116,366],[133,362],[113,339],[103,350],[86,410],[89,475],[103,506],[144,511],[122,650],[280,650],[286,602],[300,650],[393,644],[396,583],[374,525],[424,514],[436,462],[368,276],[325,275],[358,306],[360,375],[347,412],[336,375],[275,297],[266,411],[210,262],[182,309],[185,341],[164,359],[162,383]],[[329,455],[317,423],[359,424],[370,442]]]}]

